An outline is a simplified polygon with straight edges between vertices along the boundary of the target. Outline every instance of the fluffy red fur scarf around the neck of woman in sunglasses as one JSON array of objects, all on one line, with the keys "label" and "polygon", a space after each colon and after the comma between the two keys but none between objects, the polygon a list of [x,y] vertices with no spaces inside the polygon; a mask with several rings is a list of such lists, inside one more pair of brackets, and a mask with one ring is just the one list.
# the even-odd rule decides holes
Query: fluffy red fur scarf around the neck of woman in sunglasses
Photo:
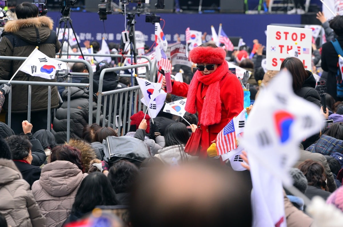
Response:
[{"label": "fluffy red fur scarf around the neck of woman in sunglasses", "polygon": [[224,61],[209,75],[202,75],[200,71],[197,71],[189,85],[185,109],[191,114],[196,112],[195,103],[199,81],[209,86],[201,110],[201,119],[199,119],[199,122],[205,126],[217,124],[221,120],[220,81],[226,75],[228,69],[229,67]]}]

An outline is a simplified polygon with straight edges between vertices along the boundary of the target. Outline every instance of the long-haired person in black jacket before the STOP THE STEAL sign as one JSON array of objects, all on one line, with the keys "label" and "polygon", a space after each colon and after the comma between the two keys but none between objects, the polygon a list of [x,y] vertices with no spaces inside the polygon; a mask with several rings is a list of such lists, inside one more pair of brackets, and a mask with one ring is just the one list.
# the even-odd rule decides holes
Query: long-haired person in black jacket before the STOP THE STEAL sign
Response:
[{"label": "long-haired person in black jacket before the STOP THE STEAL sign", "polygon": [[320,106],[320,97],[315,89],[316,79],[312,72],[305,70],[304,64],[296,57],[287,57],[281,64],[280,71],[286,68],[293,77],[293,91],[296,95]]}]

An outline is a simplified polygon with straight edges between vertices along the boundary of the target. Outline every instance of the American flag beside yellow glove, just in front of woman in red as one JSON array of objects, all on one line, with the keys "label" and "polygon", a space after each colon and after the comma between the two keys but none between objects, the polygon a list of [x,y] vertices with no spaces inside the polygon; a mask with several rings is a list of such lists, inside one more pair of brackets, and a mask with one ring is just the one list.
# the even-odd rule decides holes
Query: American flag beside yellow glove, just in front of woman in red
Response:
[{"label": "American flag beside yellow glove, just in front of woman in red", "polygon": [[224,153],[237,148],[234,119],[232,119],[224,129],[218,133],[216,138],[216,148],[218,155],[223,155]]}]

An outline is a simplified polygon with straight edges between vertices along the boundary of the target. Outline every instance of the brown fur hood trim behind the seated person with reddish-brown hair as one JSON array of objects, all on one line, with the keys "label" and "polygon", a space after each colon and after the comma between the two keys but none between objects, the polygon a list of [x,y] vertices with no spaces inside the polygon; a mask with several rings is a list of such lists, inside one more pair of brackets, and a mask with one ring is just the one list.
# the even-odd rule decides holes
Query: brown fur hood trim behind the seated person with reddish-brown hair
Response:
[{"label": "brown fur hood trim behind the seated person with reddish-brown hair", "polygon": [[91,146],[90,143],[87,143],[86,141],[80,139],[70,139],[69,143],[66,144],[78,148],[81,151],[81,162],[83,168],[85,169],[85,173],[87,173],[91,161],[93,159],[96,159],[94,148]]}]

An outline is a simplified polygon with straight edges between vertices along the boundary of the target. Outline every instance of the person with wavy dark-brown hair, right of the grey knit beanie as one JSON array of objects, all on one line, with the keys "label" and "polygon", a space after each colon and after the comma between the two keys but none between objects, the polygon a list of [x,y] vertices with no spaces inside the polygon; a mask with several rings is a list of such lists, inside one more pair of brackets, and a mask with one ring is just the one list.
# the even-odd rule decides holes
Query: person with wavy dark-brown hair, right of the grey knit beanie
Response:
[{"label": "person with wavy dark-brown hair, right of the grey knit beanie", "polygon": [[326,200],[331,195],[326,184],[326,175],[322,164],[308,159],[301,163],[298,169],[304,173],[307,179],[305,195],[309,199],[320,196]]}]

